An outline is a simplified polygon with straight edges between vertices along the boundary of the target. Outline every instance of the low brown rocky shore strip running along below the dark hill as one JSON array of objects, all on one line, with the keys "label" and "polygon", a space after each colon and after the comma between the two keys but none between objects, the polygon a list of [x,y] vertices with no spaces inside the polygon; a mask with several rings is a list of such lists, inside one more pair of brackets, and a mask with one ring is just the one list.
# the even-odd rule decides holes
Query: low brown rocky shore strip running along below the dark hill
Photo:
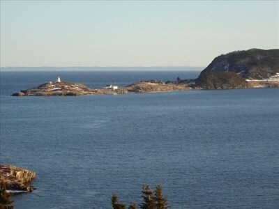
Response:
[{"label": "low brown rocky shore strip running along below the dark hill", "polygon": [[77,96],[77,95],[101,95],[119,93],[151,93],[166,91],[186,91],[193,89],[231,89],[231,88],[278,88],[279,79],[257,80],[246,82],[245,85],[232,84],[212,84],[212,86],[200,86],[195,79],[185,79],[177,82],[158,82],[156,80],[141,81],[125,87],[91,89],[83,84],[73,82],[46,82],[40,86],[21,90],[13,93],[12,96]]}]

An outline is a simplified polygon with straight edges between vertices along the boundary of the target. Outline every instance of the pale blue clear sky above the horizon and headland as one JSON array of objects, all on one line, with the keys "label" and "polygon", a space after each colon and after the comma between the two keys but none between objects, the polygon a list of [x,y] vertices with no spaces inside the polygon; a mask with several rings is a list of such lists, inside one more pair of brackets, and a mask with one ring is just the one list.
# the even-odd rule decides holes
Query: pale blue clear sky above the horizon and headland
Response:
[{"label": "pale blue clear sky above the horizon and headland", "polygon": [[279,1],[4,1],[1,67],[207,66],[279,48]]}]

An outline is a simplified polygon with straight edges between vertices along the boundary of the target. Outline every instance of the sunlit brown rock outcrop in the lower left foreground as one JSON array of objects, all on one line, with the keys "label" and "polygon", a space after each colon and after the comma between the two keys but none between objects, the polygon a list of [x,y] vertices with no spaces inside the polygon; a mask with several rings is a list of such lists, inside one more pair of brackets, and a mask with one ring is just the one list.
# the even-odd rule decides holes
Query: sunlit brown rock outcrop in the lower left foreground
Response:
[{"label": "sunlit brown rock outcrop in the lower left foreground", "polygon": [[33,187],[27,185],[36,173],[13,165],[0,165],[0,180],[6,184],[10,192],[32,192]]}]

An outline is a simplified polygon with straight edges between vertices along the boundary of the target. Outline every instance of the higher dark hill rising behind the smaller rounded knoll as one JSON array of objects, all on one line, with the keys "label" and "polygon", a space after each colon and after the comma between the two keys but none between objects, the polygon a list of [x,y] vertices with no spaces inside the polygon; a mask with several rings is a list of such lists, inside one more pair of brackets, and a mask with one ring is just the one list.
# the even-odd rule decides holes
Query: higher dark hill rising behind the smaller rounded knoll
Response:
[{"label": "higher dark hill rising behind the smaller rounded knoll", "polygon": [[279,49],[250,49],[217,56],[200,75],[235,72],[246,79],[266,79],[279,72]]}]

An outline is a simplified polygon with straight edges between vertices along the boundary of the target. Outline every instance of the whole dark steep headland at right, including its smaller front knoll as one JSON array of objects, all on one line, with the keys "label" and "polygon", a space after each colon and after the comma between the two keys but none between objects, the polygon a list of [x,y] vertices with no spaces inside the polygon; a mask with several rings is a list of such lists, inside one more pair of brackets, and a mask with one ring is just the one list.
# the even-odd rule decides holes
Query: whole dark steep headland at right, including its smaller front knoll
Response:
[{"label": "whole dark steep headland at right, including its smaller front knoll", "polygon": [[250,49],[217,56],[200,73],[196,86],[205,89],[279,86],[279,49]]}]

